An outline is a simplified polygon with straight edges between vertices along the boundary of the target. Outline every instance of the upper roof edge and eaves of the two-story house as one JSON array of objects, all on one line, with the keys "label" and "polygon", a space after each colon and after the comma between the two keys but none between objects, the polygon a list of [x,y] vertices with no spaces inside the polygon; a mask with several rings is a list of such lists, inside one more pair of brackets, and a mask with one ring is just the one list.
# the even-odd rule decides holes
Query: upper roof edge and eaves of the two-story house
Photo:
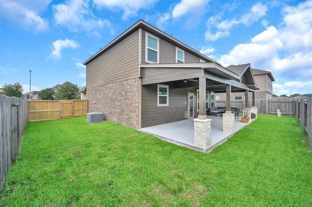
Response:
[{"label": "upper roof edge and eaves of the two-story house", "polygon": [[[116,45],[118,42],[120,42],[122,39],[124,39],[126,36],[130,35],[131,33],[133,33],[134,31],[136,31],[139,28],[142,28],[142,29],[147,30],[147,31],[152,31],[153,33],[156,33],[156,35],[158,37],[161,37],[162,39],[165,39],[165,40],[167,40],[169,42],[175,42],[175,45],[179,46],[181,49],[188,50],[189,52],[194,53],[194,54],[200,56],[201,59],[206,60],[207,62],[217,63],[215,60],[213,60],[213,59],[207,57],[206,55],[204,55],[204,54],[194,50],[193,48],[191,48],[191,47],[187,46],[186,44],[180,42],[179,40],[177,40],[173,36],[168,35],[168,34],[162,32],[161,30],[157,29],[156,27],[154,27],[154,26],[150,25],[149,23],[147,23],[147,22],[143,21],[142,19],[140,19],[140,20],[137,21],[137,23],[132,25],[129,29],[127,29],[121,35],[117,36],[117,38],[115,38],[112,42],[110,42],[104,48],[100,49],[96,54],[92,55],[88,60],[86,60],[83,63],[83,65],[87,65],[89,62],[91,62],[96,57],[98,57],[98,55],[100,55],[103,52],[107,51],[108,49],[110,49],[111,47]],[[217,63],[217,64],[219,64],[219,63]],[[221,64],[219,64],[219,65],[221,65]]]}]

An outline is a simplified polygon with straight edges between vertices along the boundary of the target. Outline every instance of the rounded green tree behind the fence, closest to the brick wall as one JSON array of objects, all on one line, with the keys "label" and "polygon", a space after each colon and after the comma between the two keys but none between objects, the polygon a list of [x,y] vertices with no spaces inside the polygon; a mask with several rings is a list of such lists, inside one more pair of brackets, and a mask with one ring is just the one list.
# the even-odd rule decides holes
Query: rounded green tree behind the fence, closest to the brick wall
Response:
[{"label": "rounded green tree behind the fence, closest to the brick wall", "polygon": [[79,88],[70,82],[64,83],[55,94],[56,99],[80,99]]}]

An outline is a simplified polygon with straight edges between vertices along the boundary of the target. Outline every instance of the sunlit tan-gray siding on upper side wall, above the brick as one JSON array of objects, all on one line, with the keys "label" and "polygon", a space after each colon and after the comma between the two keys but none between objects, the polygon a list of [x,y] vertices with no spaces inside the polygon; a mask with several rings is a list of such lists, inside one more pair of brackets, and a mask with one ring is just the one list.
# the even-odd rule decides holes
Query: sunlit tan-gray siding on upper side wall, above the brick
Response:
[{"label": "sunlit tan-gray siding on upper side wall, above the brick", "polygon": [[87,88],[138,77],[138,30],[87,64]]}]

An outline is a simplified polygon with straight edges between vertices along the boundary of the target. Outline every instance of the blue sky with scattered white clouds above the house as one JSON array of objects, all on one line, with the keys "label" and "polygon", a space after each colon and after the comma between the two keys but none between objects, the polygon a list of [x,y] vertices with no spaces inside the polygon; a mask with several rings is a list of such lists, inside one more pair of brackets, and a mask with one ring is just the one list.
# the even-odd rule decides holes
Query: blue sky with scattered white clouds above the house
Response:
[{"label": "blue sky with scattered white clouds above the house", "polygon": [[139,19],[227,67],[271,71],[273,93],[312,93],[312,0],[0,0],[0,86],[70,81]]}]

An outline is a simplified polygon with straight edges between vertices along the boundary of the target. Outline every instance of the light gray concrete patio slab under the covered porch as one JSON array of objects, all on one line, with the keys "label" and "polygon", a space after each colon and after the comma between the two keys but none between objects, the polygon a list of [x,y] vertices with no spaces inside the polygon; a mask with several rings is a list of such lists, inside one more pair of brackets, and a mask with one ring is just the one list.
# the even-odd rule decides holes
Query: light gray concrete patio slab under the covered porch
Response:
[{"label": "light gray concrete patio slab under the covered porch", "polygon": [[202,149],[194,146],[194,121],[183,120],[171,123],[160,124],[139,129],[139,131],[153,135],[161,140],[174,143],[176,145],[187,147],[193,150],[209,153],[216,146],[225,142],[228,138],[232,137],[237,131],[242,129],[247,124],[254,121],[250,119],[249,123],[241,122],[241,119],[235,119],[234,133],[223,132],[223,118],[220,116],[208,116],[211,119],[211,146],[207,149]]}]

